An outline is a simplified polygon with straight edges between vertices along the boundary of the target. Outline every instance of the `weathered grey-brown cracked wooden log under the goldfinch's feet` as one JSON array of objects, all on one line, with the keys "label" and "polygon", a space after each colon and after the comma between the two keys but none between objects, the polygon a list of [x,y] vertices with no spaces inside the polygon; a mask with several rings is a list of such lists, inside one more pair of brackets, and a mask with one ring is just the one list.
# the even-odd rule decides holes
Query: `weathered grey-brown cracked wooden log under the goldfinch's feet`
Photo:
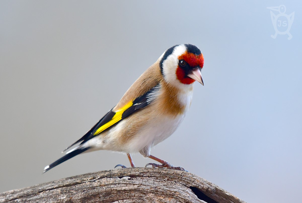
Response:
[{"label": "weathered grey-brown cracked wooden log under the goldfinch's feet", "polygon": [[125,168],[87,173],[0,194],[0,202],[245,203],[192,173]]}]

